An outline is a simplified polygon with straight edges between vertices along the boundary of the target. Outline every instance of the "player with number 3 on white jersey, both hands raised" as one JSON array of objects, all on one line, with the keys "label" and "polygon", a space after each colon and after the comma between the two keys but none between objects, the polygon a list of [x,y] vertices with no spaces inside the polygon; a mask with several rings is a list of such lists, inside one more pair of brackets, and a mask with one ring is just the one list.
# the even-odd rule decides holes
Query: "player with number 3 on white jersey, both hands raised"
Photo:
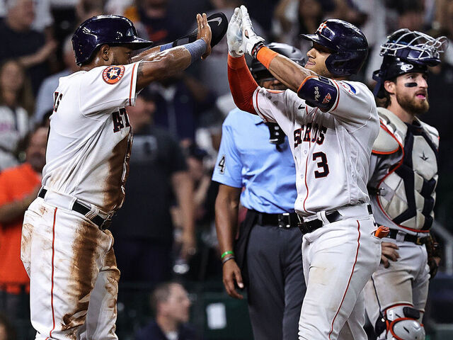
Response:
[{"label": "player with number 3 on white jersey, both hands raised", "polygon": [[[305,67],[269,50],[236,8],[227,32],[229,83],[236,106],[277,122],[296,164],[302,257],[307,285],[299,339],[367,339],[362,289],[379,265],[381,239],[369,205],[369,157],[379,118],[367,86],[347,81],[367,57],[367,40],[331,19],[313,35]],[[256,84],[243,51],[289,90]],[[253,142],[253,141],[251,141]]]}]

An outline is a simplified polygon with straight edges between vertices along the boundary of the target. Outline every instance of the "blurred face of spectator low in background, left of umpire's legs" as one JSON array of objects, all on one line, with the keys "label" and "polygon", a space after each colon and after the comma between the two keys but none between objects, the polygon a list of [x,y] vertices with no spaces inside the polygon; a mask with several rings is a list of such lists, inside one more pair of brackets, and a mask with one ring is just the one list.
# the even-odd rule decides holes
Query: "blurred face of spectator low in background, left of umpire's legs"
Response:
[{"label": "blurred face of spectator low in background, left of umpire's legs", "polygon": [[176,322],[184,323],[189,321],[190,300],[188,293],[182,285],[173,284],[170,288],[168,300],[162,305],[162,312]]}]

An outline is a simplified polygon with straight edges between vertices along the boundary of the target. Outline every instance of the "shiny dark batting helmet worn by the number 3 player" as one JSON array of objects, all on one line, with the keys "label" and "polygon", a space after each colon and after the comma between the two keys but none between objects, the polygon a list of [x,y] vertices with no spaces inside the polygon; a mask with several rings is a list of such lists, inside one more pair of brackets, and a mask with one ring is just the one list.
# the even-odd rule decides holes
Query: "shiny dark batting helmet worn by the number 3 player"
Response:
[{"label": "shiny dark batting helmet worn by the number 3 player", "polygon": [[316,33],[302,34],[302,38],[332,51],[326,59],[326,67],[336,76],[357,74],[367,59],[367,38],[352,23],[343,20],[328,19],[319,25]]}]

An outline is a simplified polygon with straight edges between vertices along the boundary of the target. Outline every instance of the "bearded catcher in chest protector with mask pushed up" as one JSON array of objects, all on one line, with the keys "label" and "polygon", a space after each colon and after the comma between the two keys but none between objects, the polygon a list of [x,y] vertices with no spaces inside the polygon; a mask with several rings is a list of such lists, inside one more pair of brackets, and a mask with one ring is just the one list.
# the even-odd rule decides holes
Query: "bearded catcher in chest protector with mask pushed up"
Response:
[{"label": "bearded catcher in chest protector with mask pushed up", "polygon": [[382,45],[384,59],[374,72],[374,94],[384,107],[378,108],[381,129],[372,151],[369,193],[377,223],[390,233],[365,297],[380,340],[425,339],[428,282],[439,261],[430,236],[439,135],[417,115],[428,111],[428,66],[440,63],[445,40],[397,30]]}]

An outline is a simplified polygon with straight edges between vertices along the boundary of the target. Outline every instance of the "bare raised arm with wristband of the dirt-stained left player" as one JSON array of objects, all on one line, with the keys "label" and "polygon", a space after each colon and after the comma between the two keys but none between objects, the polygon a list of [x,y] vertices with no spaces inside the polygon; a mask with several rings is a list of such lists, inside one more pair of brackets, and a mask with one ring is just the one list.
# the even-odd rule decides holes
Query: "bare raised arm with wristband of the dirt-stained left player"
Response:
[{"label": "bare raised arm with wristband of the dirt-stained left player", "polygon": [[143,60],[138,67],[137,91],[152,81],[183,71],[200,57],[205,59],[210,55],[212,33],[205,13],[202,16],[197,14],[197,26],[198,35],[195,42],[168,50],[161,50],[161,46],[153,47],[132,58],[132,61]]}]

